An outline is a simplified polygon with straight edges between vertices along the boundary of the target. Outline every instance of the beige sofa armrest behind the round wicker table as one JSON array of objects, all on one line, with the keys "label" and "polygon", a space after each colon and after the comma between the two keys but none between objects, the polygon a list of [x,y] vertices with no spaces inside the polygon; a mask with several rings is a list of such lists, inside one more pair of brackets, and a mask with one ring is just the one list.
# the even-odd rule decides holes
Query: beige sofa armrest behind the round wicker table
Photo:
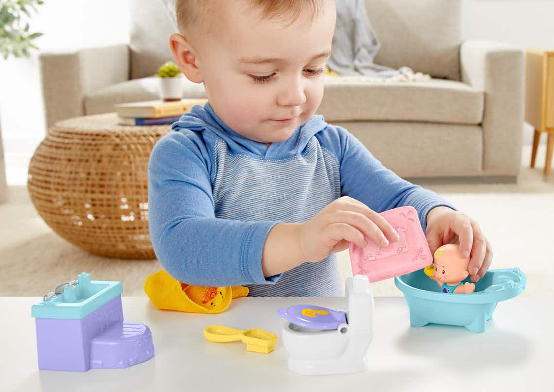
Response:
[{"label": "beige sofa armrest behind the round wicker table", "polygon": [[47,128],[65,118],[83,116],[83,98],[130,78],[129,45],[87,48],[39,55]]}]

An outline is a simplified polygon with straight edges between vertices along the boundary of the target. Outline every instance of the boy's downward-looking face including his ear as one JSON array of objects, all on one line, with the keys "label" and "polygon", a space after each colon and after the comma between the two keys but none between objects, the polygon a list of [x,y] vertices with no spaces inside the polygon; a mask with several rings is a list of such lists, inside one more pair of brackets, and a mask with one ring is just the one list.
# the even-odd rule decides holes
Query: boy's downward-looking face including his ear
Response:
[{"label": "boy's downward-looking face including his ear", "polygon": [[208,34],[173,34],[179,68],[203,82],[208,102],[233,131],[257,142],[278,143],[315,114],[331,54],[335,2],[325,1],[291,20],[262,20],[247,0],[218,2]]}]

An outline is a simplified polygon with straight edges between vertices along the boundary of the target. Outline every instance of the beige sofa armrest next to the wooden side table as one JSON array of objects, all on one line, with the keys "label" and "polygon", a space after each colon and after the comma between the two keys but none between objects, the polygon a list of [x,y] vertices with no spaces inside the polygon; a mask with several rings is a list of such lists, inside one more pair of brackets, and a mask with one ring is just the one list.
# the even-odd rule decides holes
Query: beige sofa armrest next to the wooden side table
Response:
[{"label": "beige sofa armrest next to the wooden side table", "polygon": [[461,80],[485,94],[483,172],[516,176],[521,165],[525,105],[522,48],[483,40],[460,46]]}]

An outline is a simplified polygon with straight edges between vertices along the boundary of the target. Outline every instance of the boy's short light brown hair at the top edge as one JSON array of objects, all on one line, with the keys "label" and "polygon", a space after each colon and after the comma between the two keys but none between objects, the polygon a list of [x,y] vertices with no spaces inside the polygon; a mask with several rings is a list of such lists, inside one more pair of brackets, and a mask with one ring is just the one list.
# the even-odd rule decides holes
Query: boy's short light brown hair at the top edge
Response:
[{"label": "boy's short light brown hair at the top edge", "polygon": [[[225,0],[228,1],[228,0]],[[300,14],[309,10],[311,19],[310,23],[318,16],[325,1],[329,0],[248,0],[252,8],[260,9],[261,19],[289,19],[293,23]],[[214,0],[176,0],[175,15],[177,17],[177,27],[179,32],[184,34],[185,31],[191,32],[190,27],[194,29],[200,28],[202,32],[209,32],[210,23],[206,18],[212,15],[220,7],[218,2]]]}]

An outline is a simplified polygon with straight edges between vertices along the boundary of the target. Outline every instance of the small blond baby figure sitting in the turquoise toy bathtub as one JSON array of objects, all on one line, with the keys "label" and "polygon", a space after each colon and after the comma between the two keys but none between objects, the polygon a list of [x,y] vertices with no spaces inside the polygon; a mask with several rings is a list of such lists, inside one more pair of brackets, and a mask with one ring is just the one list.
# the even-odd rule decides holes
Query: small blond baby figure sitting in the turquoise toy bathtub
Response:
[{"label": "small blond baby figure sitting in the turquoise toy bathtub", "polygon": [[438,283],[442,293],[469,294],[475,291],[475,284],[466,280],[469,276],[469,257],[461,256],[460,245],[439,247],[433,260],[433,264],[425,267],[425,274]]}]

